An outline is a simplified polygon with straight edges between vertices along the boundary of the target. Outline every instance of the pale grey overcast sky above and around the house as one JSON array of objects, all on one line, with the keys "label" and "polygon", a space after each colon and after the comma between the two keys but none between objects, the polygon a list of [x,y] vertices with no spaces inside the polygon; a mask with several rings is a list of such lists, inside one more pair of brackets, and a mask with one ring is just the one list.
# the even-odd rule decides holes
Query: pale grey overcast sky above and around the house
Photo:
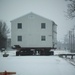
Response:
[{"label": "pale grey overcast sky above and around the house", "polygon": [[57,39],[64,40],[64,35],[75,25],[75,19],[67,19],[65,0],[0,0],[0,20],[11,28],[10,21],[34,12],[38,15],[53,20],[57,25]]}]

